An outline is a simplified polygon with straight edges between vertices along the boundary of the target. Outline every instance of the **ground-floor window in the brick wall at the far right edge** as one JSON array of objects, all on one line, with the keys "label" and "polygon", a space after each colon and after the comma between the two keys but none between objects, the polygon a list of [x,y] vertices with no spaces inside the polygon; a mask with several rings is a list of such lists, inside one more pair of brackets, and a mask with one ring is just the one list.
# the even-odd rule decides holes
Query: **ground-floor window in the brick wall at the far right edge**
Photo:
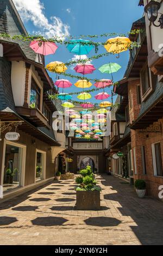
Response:
[{"label": "ground-floor window in the brick wall at the far right edge", "polygon": [[155,176],[163,176],[160,142],[152,144],[153,170]]}]

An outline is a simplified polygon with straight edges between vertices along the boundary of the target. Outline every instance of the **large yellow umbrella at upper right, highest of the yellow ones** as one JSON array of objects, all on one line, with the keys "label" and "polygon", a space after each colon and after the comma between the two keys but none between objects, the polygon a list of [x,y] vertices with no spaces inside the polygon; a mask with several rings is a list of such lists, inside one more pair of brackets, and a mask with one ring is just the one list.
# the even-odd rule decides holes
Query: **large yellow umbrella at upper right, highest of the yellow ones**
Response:
[{"label": "large yellow umbrella at upper right, highest of the yellow ones", "polygon": [[116,38],[108,39],[104,47],[108,52],[118,53],[119,57],[119,53],[127,51],[130,45],[131,41],[129,38],[126,38],[124,36],[117,36]]}]

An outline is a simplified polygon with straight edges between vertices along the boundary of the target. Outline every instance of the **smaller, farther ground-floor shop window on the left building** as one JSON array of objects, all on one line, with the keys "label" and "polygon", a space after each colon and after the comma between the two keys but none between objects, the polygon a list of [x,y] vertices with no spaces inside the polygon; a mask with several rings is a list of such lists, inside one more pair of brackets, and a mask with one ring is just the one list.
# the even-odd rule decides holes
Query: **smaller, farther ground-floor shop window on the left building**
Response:
[{"label": "smaller, farther ground-floor shop window on the left building", "polygon": [[45,169],[46,169],[46,153],[37,150],[36,151],[36,172],[35,172],[36,182],[45,179]]}]

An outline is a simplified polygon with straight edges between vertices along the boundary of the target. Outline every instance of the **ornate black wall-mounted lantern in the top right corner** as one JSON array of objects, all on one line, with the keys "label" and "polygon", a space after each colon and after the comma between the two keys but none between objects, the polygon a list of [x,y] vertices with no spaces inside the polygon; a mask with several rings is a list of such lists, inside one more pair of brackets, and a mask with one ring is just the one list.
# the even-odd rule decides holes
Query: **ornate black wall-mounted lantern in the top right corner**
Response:
[{"label": "ornate black wall-mounted lantern in the top right corner", "polygon": [[[149,2],[145,7],[145,13],[148,15],[148,20],[152,22],[153,26],[163,28],[163,14],[159,13],[159,9],[161,7],[161,4],[156,1]],[[159,25],[155,25],[155,21],[158,18],[158,14],[161,14],[158,22]]]}]

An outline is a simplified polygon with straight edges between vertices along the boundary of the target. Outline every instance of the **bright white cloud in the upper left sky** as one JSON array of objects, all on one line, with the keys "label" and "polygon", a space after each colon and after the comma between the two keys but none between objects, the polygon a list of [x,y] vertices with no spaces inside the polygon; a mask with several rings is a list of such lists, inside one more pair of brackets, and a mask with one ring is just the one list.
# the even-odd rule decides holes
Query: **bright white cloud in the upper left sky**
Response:
[{"label": "bright white cloud in the upper left sky", "polygon": [[52,16],[50,21],[47,19],[43,10],[45,9],[40,0],[13,0],[23,21],[32,21],[38,28],[36,34],[46,37],[68,36],[70,27],[63,23],[59,17]]}]

